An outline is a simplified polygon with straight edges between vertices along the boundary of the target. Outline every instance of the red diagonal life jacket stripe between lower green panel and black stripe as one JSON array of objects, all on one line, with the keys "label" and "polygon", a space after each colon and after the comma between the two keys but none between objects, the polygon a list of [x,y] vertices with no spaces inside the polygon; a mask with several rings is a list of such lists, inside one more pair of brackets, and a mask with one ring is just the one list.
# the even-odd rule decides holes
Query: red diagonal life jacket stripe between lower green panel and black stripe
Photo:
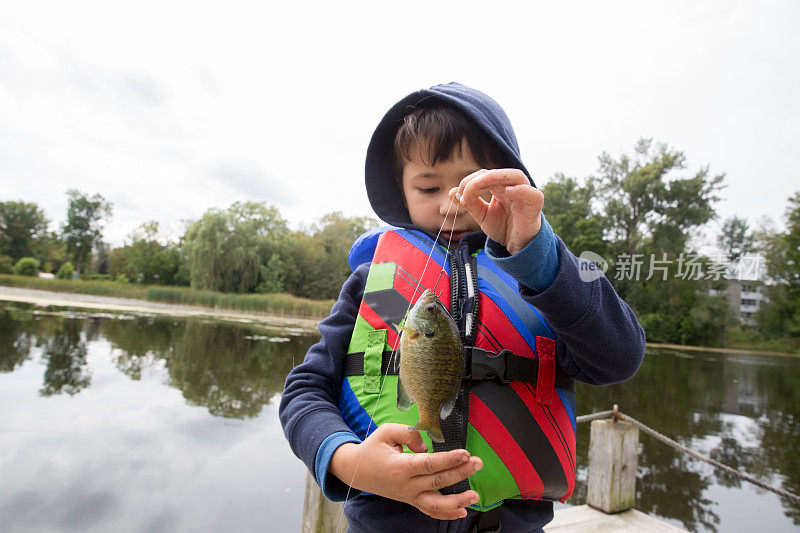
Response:
[{"label": "red diagonal life jacket stripe between lower green panel and black stripe", "polygon": [[544,493],[539,474],[517,445],[514,437],[475,394],[469,395],[469,423],[506,465],[523,498],[540,498]]}]

